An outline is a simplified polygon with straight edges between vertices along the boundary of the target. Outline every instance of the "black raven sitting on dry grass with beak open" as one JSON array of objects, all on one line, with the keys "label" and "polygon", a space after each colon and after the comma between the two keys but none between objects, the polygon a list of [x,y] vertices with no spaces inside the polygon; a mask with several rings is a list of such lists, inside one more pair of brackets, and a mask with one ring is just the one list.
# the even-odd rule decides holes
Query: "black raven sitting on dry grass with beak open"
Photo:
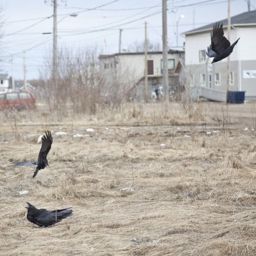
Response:
[{"label": "black raven sitting on dry grass with beak open", "polygon": [[27,202],[28,214],[27,219],[40,227],[48,227],[56,222],[61,221],[62,219],[67,218],[72,214],[72,210],[70,208],[47,211],[46,209],[36,209],[34,205],[31,205]]}]

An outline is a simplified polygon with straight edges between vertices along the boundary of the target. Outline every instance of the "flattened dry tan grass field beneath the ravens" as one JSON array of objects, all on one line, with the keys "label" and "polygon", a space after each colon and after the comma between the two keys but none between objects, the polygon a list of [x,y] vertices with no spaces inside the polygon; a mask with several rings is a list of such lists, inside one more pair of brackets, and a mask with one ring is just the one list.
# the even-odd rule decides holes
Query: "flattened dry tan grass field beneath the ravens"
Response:
[{"label": "flattened dry tan grass field beneath the ravens", "polygon": [[[209,102],[1,112],[0,255],[256,255],[254,113]],[[36,160],[47,129],[49,166],[32,179],[8,161]],[[40,228],[26,202],[74,214]]]}]

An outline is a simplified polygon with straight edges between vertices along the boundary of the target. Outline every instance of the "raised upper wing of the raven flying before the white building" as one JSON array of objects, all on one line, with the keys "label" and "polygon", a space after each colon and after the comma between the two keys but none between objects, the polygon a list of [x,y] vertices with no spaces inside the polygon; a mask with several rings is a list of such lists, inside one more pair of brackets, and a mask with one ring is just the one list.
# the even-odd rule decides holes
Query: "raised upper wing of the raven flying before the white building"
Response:
[{"label": "raised upper wing of the raven flying before the white building", "polygon": [[211,48],[216,54],[220,54],[223,50],[230,47],[230,42],[225,38],[223,24],[216,23],[211,33]]}]

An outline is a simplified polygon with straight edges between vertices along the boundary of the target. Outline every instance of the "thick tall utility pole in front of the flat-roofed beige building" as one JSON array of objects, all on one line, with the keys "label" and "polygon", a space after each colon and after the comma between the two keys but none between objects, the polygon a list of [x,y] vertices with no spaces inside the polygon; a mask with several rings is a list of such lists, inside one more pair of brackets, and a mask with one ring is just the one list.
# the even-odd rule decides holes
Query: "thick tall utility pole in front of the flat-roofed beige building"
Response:
[{"label": "thick tall utility pole in front of the flat-roofed beige building", "polygon": [[169,102],[169,84],[168,84],[168,41],[167,41],[167,0],[162,0],[163,7],[163,88],[165,92],[165,101]]}]

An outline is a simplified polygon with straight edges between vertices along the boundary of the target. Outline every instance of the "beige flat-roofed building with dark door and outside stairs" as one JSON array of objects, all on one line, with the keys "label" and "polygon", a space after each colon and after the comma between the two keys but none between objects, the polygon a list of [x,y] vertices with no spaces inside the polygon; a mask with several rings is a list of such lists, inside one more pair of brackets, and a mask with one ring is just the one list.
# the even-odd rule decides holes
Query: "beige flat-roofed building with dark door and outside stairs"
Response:
[{"label": "beige flat-roofed building with dark door and outside stairs", "polygon": [[[109,55],[100,55],[100,67],[132,74],[136,83],[136,96],[143,95],[145,81],[145,54],[144,52],[122,52]],[[179,87],[180,63],[184,63],[184,49],[168,51],[169,90]],[[148,52],[148,89],[149,94],[163,84],[163,52]]]}]

